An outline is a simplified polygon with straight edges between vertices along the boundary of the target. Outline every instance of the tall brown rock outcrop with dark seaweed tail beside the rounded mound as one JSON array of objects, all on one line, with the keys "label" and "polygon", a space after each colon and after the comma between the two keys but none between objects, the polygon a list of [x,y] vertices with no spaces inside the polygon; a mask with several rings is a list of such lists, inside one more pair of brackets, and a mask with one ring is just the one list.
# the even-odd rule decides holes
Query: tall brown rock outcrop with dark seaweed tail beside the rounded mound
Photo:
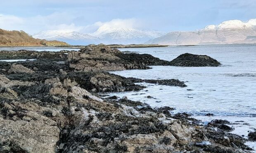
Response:
[{"label": "tall brown rock outcrop with dark seaweed tail beside the rounded mound", "polygon": [[104,44],[91,44],[80,51],[70,52],[68,63],[71,68],[86,72],[149,69],[147,65],[169,64],[168,61],[160,60],[149,54],[125,54]]}]

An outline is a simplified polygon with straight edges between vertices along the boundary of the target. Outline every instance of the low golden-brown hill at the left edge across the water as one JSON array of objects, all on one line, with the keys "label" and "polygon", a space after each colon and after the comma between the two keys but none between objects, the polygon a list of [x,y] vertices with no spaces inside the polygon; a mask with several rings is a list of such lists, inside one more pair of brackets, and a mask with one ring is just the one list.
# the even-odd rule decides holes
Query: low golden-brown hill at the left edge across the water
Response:
[{"label": "low golden-brown hill at the left edge across the water", "polygon": [[35,39],[24,31],[0,29],[0,46],[69,46],[66,42]]}]

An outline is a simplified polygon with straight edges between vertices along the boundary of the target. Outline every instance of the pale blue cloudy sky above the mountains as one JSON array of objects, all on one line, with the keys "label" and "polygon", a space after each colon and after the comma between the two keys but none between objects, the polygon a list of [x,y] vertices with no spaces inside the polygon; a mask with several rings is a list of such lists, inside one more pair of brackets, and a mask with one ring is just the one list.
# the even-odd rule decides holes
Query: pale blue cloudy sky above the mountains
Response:
[{"label": "pale blue cloudy sky above the mountains", "polygon": [[5,0],[0,28],[92,33],[100,26],[192,31],[256,18],[256,0]]}]

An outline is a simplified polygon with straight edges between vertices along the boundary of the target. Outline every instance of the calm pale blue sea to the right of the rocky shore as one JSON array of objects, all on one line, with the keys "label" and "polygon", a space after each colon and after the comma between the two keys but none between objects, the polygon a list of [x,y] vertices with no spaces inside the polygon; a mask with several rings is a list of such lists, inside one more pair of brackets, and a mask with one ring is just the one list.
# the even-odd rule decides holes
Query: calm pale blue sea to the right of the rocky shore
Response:
[{"label": "calm pale blue sea to the right of the rocky shore", "polygon": [[[235,133],[247,136],[256,128],[256,44],[169,46],[161,48],[120,49],[149,53],[163,60],[173,60],[182,53],[208,55],[218,60],[219,67],[152,66],[150,70],[111,72],[140,79],[179,79],[187,87],[147,86],[137,92],[112,93],[130,100],[146,102],[152,107],[174,107],[172,113],[187,112],[202,121],[227,119],[249,125],[232,125]],[[191,89],[191,90],[187,90]],[[156,99],[148,99],[150,95]],[[212,113],[214,116],[204,116]]]}]

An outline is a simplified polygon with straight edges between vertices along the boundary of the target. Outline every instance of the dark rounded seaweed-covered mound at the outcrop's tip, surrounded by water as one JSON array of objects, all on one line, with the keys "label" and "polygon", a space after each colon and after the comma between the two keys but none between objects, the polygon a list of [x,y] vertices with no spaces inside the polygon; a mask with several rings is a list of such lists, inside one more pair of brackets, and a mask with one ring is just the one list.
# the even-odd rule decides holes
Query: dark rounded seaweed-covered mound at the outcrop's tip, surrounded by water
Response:
[{"label": "dark rounded seaweed-covered mound at the outcrop's tip, surrounded by water", "polygon": [[184,53],[170,62],[172,66],[184,67],[204,67],[204,66],[219,66],[220,63],[206,55],[194,55],[191,53]]}]

